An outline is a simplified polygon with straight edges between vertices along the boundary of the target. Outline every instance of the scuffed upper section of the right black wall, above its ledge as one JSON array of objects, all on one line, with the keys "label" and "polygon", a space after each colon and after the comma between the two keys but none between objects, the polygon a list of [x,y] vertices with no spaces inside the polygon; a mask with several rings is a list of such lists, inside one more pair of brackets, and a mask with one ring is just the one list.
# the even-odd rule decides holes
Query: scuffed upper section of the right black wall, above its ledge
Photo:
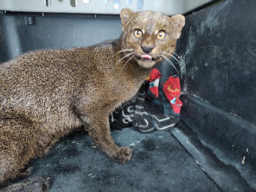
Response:
[{"label": "scuffed upper section of the right black wall, above its ledge", "polygon": [[[256,1],[226,1],[186,17],[183,91],[256,123]],[[185,67],[186,66],[186,67]]]}]

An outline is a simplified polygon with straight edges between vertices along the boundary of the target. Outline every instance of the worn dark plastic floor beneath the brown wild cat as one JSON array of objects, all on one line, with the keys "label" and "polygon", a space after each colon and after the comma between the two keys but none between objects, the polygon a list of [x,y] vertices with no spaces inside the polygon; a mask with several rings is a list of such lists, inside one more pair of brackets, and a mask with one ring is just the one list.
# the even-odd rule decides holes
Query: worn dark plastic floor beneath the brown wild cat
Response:
[{"label": "worn dark plastic floor beneath the brown wild cat", "polygon": [[31,162],[29,177],[49,177],[49,192],[221,191],[170,132],[125,128],[112,136],[133,149],[125,164],[111,161],[88,135],[73,133]]}]

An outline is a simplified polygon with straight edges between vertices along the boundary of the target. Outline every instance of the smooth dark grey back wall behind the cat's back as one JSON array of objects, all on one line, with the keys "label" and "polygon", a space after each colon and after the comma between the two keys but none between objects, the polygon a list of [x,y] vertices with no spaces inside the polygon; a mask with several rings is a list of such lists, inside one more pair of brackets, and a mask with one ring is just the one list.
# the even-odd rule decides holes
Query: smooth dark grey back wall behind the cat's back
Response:
[{"label": "smooth dark grey back wall behind the cat's back", "polygon": [[0,14],[0,63],[39,49],[83,47],[120,36],[120,18]]}]

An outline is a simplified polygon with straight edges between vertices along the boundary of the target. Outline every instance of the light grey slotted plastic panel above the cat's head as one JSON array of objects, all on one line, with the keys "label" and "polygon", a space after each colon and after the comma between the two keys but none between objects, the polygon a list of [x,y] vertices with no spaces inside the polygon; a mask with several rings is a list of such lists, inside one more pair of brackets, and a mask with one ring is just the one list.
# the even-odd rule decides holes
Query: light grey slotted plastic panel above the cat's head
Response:
[{"label": "light grey slotted plastic panel above the cat's head", "polygon": [[[0,0],[0,10],[17,12],[58,12],[119,14],[122,8],[154,10],[167,15],[191,11],[211,0]],[[85,3],[84,3],[85,2]]]}]

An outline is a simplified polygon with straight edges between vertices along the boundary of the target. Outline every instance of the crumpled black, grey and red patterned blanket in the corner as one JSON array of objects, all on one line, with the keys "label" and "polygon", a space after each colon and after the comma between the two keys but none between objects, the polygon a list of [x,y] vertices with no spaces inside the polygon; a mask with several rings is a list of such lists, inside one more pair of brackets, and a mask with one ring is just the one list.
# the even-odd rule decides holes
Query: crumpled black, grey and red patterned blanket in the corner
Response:
[{"label": "crumpled black, grey and red patterned blanket in the corner", "polygon": [[[158,88],[160,77],[161,73],[154,68],[137,95],[109,116],[112,130],[121,130],[134,125],[140,132],[147,133],[169,130],[179,122],[182,106],[179,99],[179,77],[170,76],[164,84],[160,85],[161,88]],[[155,100],[158,96],[160,98]],[[152,100],[155,102],[151,102]]]}]

